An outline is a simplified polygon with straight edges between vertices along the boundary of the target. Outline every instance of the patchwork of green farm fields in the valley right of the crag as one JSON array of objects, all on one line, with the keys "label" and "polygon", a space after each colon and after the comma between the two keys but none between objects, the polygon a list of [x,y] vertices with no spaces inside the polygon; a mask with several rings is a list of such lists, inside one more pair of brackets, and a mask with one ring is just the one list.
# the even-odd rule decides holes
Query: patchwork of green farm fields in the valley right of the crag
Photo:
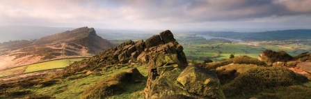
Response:
[{"label": "patchwork of green farm fields in the valley right of the crag", "polygon": [[179,34],[175,38],[183,45],[187,59],[199,62],[205,59],[212,59],[213,61],[229,59],[230,54],[257,58],[264,50],[283,50],[292,56],[311,51],[310,40],[248,41],[239,43],[218,38],[206,40],[201,36],[191,34]]}]

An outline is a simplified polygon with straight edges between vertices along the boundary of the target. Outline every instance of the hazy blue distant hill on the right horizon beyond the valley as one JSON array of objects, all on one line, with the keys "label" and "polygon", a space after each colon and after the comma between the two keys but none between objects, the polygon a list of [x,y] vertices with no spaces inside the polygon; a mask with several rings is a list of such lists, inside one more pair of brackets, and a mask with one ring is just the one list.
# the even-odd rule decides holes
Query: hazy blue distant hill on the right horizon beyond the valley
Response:
[{"label": "hazy blue distant hill on the right horizon beyond the valley", "polygon": [[298,40],[311,39],[311,29],[290,29],[264,32],[233,32],[233,31],[205,31],[198,34],[209,36],[236,38],[241,40]]}]

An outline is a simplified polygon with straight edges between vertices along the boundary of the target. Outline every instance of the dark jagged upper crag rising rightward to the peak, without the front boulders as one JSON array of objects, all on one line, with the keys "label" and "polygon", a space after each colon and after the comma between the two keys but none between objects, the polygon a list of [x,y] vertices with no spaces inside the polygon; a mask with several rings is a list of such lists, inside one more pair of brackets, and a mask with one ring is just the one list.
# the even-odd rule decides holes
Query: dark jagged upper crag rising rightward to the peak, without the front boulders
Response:
[{"label": "dark jagged upper crag rising rightward to the peak, without the front boulders", "polygon": [[[67,73],[77,73],[81,70],[111,65],[115,63],[149,63],[154,64],[155,68],[161,66],[186,66],[186,56],[184,48],[174,38],[169,30],[152,36],[145,42],[128,40],[125,43],[101,52],[88,60],[80,63],[73,63],[66,68]],[[153,65],[151,65],[153,66]]]}]

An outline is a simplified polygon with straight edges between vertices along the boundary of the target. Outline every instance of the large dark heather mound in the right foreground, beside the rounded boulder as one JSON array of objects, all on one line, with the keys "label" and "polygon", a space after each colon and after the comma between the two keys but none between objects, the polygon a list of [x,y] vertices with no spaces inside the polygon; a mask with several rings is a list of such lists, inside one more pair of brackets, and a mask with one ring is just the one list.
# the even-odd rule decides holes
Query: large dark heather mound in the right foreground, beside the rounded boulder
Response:
[{"label": "large dark heather mound in the right foreground, beside the rounded boulder", "polygon": [[239,77],[225,84],[225,96],[235,94],[251,94],[278,86],[291,86],[296,84],[296,75],[292,70],[286,68],[253,68]]}]

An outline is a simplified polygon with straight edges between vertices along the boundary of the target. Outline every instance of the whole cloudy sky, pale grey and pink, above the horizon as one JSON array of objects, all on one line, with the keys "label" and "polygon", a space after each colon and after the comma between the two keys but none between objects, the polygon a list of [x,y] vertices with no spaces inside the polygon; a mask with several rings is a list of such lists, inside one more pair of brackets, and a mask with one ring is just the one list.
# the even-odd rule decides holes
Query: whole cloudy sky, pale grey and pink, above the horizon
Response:
[{"label": "whole cloudy sky, pale grey and pink, above the horizon", "polygon": [[0,0],[0,25],[310,29],[311,0]]}]

